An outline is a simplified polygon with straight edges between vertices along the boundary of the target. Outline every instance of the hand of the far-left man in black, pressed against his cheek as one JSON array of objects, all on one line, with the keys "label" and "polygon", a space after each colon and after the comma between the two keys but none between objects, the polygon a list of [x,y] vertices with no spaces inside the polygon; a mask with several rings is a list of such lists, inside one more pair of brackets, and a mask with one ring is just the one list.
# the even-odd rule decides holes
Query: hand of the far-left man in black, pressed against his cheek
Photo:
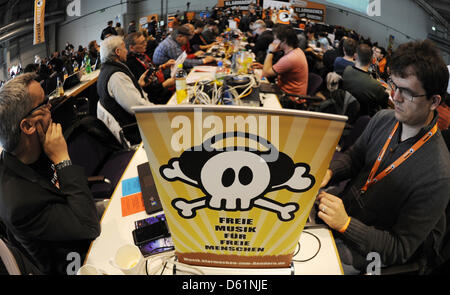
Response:
[{"label": "hand of the far-left man in black, pressed against his cheek", "polygon": [[64,139],[60,124],[50,121],[47,131],[44,132],[42,123],[38,122],[36,124],[36,129],[42,148],[44,149],[44,153],[54,164],[70,159],[67,143]]}]

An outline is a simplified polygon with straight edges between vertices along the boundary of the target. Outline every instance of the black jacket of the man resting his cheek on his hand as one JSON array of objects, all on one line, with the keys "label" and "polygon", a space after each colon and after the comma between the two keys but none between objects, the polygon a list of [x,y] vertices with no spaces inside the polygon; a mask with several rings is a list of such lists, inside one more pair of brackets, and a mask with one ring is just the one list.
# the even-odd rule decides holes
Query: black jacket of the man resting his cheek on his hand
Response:
[{"label": "black jacket of the man resting his cheek on his hand", "polygon": [[[35,170],[39,167],[39,171]],[[47,168],[47,169],[46,169]],[[84,170],[72,165],[58,171],[59,189],[42,156],[27,166],[3,151],[0,159],[0,219],[12,237],[46,274],[67,274],[67,255],[83,257],[100,224]]]}]

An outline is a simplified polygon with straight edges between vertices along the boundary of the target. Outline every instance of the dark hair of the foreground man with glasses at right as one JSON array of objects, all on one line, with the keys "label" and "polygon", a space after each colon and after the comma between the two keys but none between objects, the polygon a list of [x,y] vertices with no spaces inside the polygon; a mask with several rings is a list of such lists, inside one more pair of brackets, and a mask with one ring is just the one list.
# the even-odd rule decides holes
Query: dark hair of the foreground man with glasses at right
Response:
[{"label": "dark hair of the foreground man with glasses at right", "polygon": [[413,41],[400,45],[390,61],[391,74],[401,78],[417,77],[431,98],[444,97],[447,92],[449,72],[439,50],[431,40]]}]

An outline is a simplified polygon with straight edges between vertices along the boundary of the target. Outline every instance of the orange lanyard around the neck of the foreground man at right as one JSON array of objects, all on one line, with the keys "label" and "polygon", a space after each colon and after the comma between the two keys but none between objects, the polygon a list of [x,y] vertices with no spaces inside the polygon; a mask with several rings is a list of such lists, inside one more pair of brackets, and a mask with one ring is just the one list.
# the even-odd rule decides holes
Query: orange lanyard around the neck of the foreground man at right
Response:
[{"label": "orange lanyard around the neck of the foreground man at right", "polygon": [[361,189],[361,193],[365,193],[369,187],[380,181],[383,177],[394,171],[395,168],[400,166],[406,159],[408,159],[412,154],[414,154],[422,145],[424,145],[433,135],[437,132],[437,124],[434,125],[433,128],[429,132],[427,132],[419,141],[417,141],[409,150],[407,150],[402,156],[400,156],[397,160],[395,160],[394,163],[389,165],[386,169],[384,169],[380,174],[375,176],[377,173],[378,167],[381,164],[381,160],[383,160],[384,155],[386,154],[386,150],[389,147],[389,144],[391,143],[392,137],[394,137],[395,132],[397,131],[399,126],[399,123],[395,125],[394,129],[392,129],[391,134],[389,135],[389,138],[386,140],[386,143],[383,146],[383,149],[379,153],[377,160],[375,161],[375,164],[372,167],[372,170],[370,171],[369,178],[366,181],[366,184]]}]

